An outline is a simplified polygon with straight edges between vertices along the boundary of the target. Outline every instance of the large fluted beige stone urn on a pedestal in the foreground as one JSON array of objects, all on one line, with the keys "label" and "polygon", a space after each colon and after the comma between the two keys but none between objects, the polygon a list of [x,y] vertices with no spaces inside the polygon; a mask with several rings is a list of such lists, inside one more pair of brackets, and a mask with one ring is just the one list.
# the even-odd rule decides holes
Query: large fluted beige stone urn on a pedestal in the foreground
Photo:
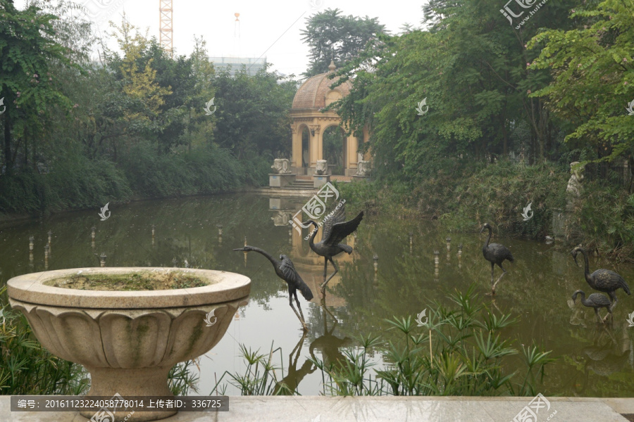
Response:
[{"label": "large fluted beige stone urn on a pedestal in the foreground", "polygon": [[[206,286],[168,290],[79,290],[51,286],[83,276],[192,276]],[[247,276],[207,269],[104,267],[25,274],[7,283],[9,302],[22,311],[49,352],[89,371],[87,397],[173,396],[168,373],[178,362],[211,350],[238,307],[247,305]],[[127,422],[155,421],[177,411],[137,411]],[[91,418],[94,411],[82,411]],[[120,413],[120,412],[118,412]],[[115,416],[123,421],[128,415]]]}]

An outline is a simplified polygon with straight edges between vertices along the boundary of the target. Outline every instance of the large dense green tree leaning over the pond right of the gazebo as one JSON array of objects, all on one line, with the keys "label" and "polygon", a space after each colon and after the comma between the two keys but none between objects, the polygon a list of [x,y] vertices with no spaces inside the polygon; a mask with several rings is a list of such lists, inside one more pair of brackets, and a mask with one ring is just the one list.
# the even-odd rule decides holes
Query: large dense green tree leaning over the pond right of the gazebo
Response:
[{"label": "large dense green tree leaning over the pond right of the gazebo", "polygon": [[353,89],[335,108],[349,132],[370,127],[375,174],[413,180],[459,157],[506,155],[518,127],[528,139],[516,152],[545,158],[559,127],[529,96],[550,76],[527,65],[537,52],[525,44],[540,27],[570,25],[561,13],[536,13],[519,31],[490,2],[432,1],[425,16],[428,30],[381,34],[337,72]]}]

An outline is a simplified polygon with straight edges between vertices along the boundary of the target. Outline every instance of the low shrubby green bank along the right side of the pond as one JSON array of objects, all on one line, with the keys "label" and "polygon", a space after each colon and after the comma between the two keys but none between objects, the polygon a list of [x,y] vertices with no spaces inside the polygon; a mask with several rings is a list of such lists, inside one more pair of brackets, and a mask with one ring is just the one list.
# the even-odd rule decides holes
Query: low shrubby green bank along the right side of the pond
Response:
[{"label": "low shrubby green bank along the right side of the pond", "polygon": [[[503,236],[545,241],[567,209],[570,171],[554,162],[538,165],[501,160],[461,163],[434,177],[376,179],[337,185],[354,210],[366,215],[438,219],[449,231],[473,233],[488,222]],[[617,261],[634,262],[634,194],[607,179],[582,183],[580,200],[557,228],[566,247],[583,244]]]}]

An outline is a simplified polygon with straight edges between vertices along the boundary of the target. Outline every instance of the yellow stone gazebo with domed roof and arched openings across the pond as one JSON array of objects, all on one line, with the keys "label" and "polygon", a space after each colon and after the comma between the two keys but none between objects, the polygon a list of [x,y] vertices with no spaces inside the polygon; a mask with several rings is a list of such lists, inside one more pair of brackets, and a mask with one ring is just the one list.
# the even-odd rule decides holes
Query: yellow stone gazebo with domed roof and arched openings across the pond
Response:
[{"label": "yellow stone gazebo with domed roof and arched openings across the pond", "polygon": [[[297,90],[293,99],[290,115],[293,119],[292,130],[292,160],[290,167],[294,174],[315,174],[318,160],[324,160],[323,133],[328,127],[338,127],[341,119],[333,110],[325,113],[321,109],[328,106],[350,93],[352,84],[344,82],[335,89],[330,86],[337,82],[338,77],[328,79],[335,72],[335,63],[330,62],[327,73],[313,76],[304,82]],[[359,161],[363,156],[357,153],[359,140],[355,136],[344,136],[342,142],[342,156],[345,176],[365,176],[364,169],[367,165],[361,165],[359,173]],[[363,129],[364,139],[369,139],[366,129]],[[331,164],[331,163],[328,163]],[[365,164],[365,163],[364,163]]]}]

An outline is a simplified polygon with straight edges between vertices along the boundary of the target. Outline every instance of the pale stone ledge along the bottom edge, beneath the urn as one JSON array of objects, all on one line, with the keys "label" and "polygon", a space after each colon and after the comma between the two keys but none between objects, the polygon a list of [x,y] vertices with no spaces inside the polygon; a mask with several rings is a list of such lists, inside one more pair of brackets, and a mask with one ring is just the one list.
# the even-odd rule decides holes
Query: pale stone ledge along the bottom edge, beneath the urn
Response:
[{"label": "pale stone ledge along the bottom edge, beneath the urn", "polygon": [[[180,412],[163,422],[509,422],[532,397],[230,397],[228,412]],[[634,399],[547,397],[538,421],[626,422]],[[0,396],[1,422],[86,422],[77,412],[11,412]],[[544,416],[542,417],[542,413]],[[319,418],[318,418],[319,416]]]}]

